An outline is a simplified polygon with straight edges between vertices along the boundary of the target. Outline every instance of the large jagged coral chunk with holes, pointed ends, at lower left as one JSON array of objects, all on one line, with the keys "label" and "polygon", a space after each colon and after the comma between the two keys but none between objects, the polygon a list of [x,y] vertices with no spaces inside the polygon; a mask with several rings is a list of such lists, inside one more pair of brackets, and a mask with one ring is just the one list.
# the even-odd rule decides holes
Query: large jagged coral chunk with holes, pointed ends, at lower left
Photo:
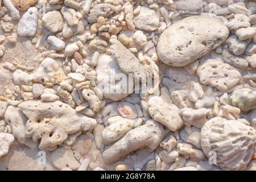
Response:
[{"label": "large jagged coral chunk with holes, pointed ends, at lower left", "polygon": [[60,101],[25,101],[18,105],[28,118],[26,137],[39,142],[40,149],[55,150],[68,135],[93,130],[96,119],[77,114],[75,109]]}]

